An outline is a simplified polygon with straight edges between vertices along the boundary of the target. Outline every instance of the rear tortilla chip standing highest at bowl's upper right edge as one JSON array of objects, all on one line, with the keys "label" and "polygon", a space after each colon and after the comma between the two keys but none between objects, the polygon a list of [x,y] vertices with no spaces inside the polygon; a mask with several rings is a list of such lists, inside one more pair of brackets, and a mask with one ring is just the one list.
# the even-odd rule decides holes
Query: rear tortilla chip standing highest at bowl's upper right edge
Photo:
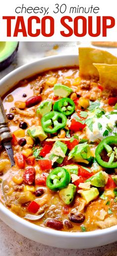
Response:
[{"label": "rear tortilla chip standing highest at bowl's upper right edge", "polygon": [[93,63],[117,64],[117,57],[108,51],[79,47],[79,75],[81,77],[99,79],[99,72]]}]

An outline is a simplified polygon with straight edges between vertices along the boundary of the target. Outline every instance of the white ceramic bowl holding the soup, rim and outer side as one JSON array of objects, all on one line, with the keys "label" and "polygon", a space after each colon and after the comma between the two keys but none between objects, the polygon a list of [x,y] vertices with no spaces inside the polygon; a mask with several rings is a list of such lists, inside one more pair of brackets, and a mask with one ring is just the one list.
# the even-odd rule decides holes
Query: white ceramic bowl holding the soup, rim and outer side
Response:
[{"label": "white ceramic bowl holding the soup, rim and outer side", "polygon": [[[36,73],[59,67],[78,65],[78,55],[59,55],[43,58],[39,61],[21,66],[0,80],[0,95],[2,96],[19,80]],[[84,249],[98,247],[117,241],[117,225],[104,230],[84,233],[56,231],[29,223],[10,212],[0,203],[0,219],[19,234],[44,245]]]}]

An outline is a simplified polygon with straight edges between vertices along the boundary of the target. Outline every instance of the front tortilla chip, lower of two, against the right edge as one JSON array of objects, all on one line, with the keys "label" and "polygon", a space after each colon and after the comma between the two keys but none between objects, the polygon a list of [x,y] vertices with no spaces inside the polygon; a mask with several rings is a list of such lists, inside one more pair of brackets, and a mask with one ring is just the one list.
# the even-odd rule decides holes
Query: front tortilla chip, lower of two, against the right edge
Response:
[{"label": "front tortilla chip, lower of two, against the right edge", "polygon": [[117,65],[93,63],[100,75],[100,83],[105,89],[117,91]]}]

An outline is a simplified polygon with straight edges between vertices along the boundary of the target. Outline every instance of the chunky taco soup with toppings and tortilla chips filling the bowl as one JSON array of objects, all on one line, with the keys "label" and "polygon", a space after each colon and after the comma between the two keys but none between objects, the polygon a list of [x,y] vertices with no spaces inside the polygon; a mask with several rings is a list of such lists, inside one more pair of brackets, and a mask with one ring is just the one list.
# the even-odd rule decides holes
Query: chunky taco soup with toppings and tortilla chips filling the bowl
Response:
[{"label": "chunky taco soup with toppings and tortilla chips filling the bowl", "polygon": [[15,166],[1,145],[0,201],[10,211],[60,231],[117,225],[116,69],[112,54],[80,48],[79,67],[24,79],[3,97]]}]

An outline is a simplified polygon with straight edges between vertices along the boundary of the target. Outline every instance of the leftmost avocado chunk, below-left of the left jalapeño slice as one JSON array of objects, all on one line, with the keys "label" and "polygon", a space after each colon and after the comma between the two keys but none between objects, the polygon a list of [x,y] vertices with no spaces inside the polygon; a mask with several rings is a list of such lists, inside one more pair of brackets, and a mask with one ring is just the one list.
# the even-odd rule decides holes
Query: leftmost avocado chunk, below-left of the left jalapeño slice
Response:
[{"label": "leftmost avocado chunk, below-left of the left jalape\u00f1o slice", "polygon": [[43,128],[41,126],[35,126],[35,127],[31,127],[28,129],[27,131],[28,135],[33,139],[37,139],[39,138],[40,141],[43,141],[47,138],[46,133],[43,131]]}]

